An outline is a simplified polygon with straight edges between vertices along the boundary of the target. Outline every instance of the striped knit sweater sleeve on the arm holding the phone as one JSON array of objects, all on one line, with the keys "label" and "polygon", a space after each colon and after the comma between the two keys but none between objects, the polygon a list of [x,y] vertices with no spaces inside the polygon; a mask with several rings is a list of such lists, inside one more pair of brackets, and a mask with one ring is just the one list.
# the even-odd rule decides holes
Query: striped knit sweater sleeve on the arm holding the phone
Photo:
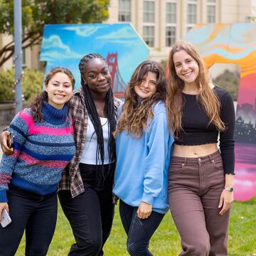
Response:
[{"label": "striped knit sweater sleeve on the arm holding the phone", "polygon": [[8,184],[11,181],[11,175],[14,172],[16,161],[21,154],[21,149],[26,141],[28,134],[28,124],[26,122],[27,117],[30,117],[28,112],[22,110],[16,114],[16,117],[11,121],[9,132],[14,134],[14,153],[6,156],[3,154],[0,164],[0,202],[6,202],[6,191]]}]

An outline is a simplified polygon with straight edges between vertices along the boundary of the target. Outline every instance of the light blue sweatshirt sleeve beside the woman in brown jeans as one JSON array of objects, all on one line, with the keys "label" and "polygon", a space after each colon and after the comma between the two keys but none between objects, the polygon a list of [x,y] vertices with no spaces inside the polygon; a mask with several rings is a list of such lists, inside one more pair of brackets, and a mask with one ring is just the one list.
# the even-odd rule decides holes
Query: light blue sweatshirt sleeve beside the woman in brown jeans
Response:
[{"label": "light blue sweatshirt sleeve beside the woman in brown jeans", "polygon": [[144,193],[142,201],[153,204],[164,184],[164,166],[171,139],[166,112],[159,112],[149,124],[148,154],[144,164]]}]

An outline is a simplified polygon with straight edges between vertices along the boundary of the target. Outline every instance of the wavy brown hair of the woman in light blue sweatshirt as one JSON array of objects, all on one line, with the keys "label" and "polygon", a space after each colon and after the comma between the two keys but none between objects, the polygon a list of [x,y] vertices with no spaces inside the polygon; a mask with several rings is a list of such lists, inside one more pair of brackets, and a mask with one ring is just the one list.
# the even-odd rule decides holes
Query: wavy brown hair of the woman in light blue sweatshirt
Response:
[{"label": "wavy brown hair of the woman in light blue sweatshirt", "polygon": [[[134,87],[140,85],[149,72],[156,74],[156,92],[151,97],[140,100]],[[122,114],[117,122],[114,137],[124,130],[137,138],[142,137],[142,132],[147,128],[147,120],[154,117],[152,108],[159,100],[166,100],[166,84],[164,70],[159,63],[145,60],[139,64],[127,85]]]}]

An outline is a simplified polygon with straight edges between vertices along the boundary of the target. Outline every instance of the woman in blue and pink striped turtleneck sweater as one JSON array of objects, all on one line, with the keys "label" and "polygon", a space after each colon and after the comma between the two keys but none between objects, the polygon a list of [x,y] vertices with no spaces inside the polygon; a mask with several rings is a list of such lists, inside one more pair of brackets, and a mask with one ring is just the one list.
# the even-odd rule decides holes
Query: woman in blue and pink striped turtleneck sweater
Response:
[{"label": "woman in blue and pink striped turtleneck sweater", "polygon": [[11,224],[0,226],[1,255],[15,255],[26,230],[26,255],[46,255],[57,219],[57,188],[75,154],[68,100],[75,80],[67,68],[46,75],[46,90],[11,122],[14,154],[0,164],[0,213]]}]

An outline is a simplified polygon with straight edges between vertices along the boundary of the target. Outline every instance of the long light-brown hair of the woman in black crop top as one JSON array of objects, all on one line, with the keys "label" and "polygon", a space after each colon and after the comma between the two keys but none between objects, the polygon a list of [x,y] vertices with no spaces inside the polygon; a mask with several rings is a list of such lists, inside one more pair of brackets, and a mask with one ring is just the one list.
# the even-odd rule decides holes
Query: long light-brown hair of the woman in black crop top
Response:
[{"label": "long light-brown hair of the woman in black crop top", "polygon": [[220,101],[218,100],[217,95],[215,95],[214,90],[210,87],[208,70],[206,70],[203,58],[201,58],[198,50],[187,41],[177,41],[174,43],[169,54],[169,77],[166,97],[166,111],[169,128],[174,132],[174,137],[176,139],[178,139],[178,134],[183,131],[181,124],[183,108],[181,93],[185,84],[181,78],[178,78],[174,65],[174,53],[181,50],[185,50],[198,64],[199,72],[198,77],[196,78],[196,84],[198,85],[199,93],[197,95],[197,100],[208,116],[208,125],[212,123],[218,131],[223,132],[225,130],[225,124],[220,119]]}]

